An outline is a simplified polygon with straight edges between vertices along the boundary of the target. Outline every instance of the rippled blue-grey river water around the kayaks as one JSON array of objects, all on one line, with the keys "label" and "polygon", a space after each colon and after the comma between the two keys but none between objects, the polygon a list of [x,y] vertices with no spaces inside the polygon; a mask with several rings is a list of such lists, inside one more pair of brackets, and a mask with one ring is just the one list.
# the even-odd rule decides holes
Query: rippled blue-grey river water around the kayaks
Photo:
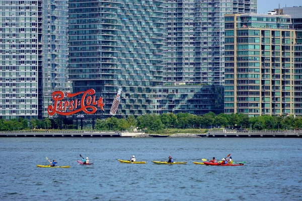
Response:
[{"label": "rippled blue-grey river water around the kayaks", "polygon": [[[302,200],[302,141],[287,138],[0,138],[0,200]],[[192,161],[232,154],[244,166]],[[77,159],[88,156],[93,165]],[[135,155],[146,164],[125,164]],[[187,161],[157,165],[152,160]],[[70,168],[38,168],[56,159]]]}]

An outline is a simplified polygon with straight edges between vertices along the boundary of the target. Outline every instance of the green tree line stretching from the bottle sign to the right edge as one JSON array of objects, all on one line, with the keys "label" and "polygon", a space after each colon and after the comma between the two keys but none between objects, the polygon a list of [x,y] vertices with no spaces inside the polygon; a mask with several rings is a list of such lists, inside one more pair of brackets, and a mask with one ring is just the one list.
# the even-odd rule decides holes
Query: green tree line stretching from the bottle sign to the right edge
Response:
[{"label": "green tree line stretching from the bottle sign to the right edge", "polygon": [[160,131],[163,129],[199,129],[232,127],[253,130],[293,130],[302,128],[302,118],[293,116],[259,116],[248,117],[244,114],[219,114],[210,112],[202,116],[188,113],[166,113],[162,115],[143,115],[135,118],[129,116],[127,119],[111,117],[96,121],[96,130],[101,131],[124,131],[131,128],[144,129],[146,131]]}]

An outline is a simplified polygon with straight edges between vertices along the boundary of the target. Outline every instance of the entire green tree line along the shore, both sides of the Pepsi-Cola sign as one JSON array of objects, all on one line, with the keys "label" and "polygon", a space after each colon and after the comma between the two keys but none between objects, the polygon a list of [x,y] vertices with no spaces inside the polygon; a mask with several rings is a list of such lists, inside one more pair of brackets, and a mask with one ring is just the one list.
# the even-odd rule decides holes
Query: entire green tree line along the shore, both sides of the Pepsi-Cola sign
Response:
[{"label": "entire green tree line along the shore, both sides of the Pepsi-Cola sign", "polygon": [[[32,119],[27,121],[23,118],[18,120],[0,119],[1,131],[29,130],[29,129],[59,129],[60,119],[43,120]],[[66,126],[65,126],[66,125]],[[302,117],[293,116],[259,116],[248,117],[244,114],[219,114],[212,112],[202,116],[196,116],[188,113],[165,113],[162,115],[146,114],[135,118],[129,116],[126,119],[117,119],[110,117],[107,119],[97,119],[95,130],[99,131],[130,131],[133,128],[148,131],[160,131],[163,129],[199,129],[199,128],[217,128],[232,127],[253,130],[293,130],[302,128]],[[63,128],[73,129],[75,126],[71,120],[63,120]]]}]

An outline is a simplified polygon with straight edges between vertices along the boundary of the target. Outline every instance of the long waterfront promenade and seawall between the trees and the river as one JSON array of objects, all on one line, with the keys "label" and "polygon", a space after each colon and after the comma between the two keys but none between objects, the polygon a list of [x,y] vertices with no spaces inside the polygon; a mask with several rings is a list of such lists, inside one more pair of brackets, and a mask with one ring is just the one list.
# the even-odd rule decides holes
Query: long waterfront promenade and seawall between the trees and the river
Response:
[{"label": "long waterfront promenade and seawall between the trees and the river", "polygon": [[156,135],[142,132],[99,131],[2,131],[0,137],[209,137],[209,138],[300,138],[302,131],[213,131],[204,134]]}]

